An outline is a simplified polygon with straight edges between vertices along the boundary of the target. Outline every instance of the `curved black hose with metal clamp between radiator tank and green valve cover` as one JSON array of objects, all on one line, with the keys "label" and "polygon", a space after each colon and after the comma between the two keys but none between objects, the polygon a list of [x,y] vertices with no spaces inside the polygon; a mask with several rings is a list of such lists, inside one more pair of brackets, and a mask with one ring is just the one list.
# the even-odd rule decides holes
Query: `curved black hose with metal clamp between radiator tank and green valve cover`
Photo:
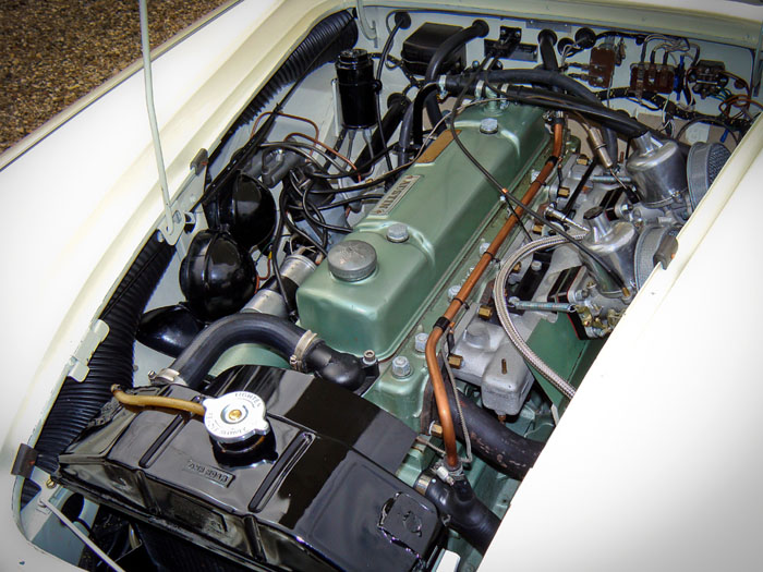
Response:
[{"label": "curved black hose with metal clamp between radiator tank and green valve cover", "polygon": [[[214,321],[202,331],[169,366],[192,389],[199,389],[213,365],[230,348],[240,343],[259,343],[290,361],[306,330],[268,314],[239,313]],[[338,352],[315,338],[302,352],[303,366],[327,381],[351,391],[366,380],[361,361]]]}]

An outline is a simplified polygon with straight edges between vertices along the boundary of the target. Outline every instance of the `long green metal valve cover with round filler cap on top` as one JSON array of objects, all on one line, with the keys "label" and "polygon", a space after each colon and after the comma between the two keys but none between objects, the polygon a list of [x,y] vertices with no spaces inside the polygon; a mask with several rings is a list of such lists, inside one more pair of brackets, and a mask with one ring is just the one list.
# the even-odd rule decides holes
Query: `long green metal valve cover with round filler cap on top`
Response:
[{"label": "long green metal valve cover with round filler cap on top", "polygon": [[[487,118],[497,120],[497,131]],[[482,132],[485,119],[493,125],[483,125],[486,132]],[[470,108],[456,127],[465,147],[509,191],[548,142],[542,112],[524,106],[502,111]],[[339,278],[329,264],[322,264],[300,287],[301,325],[337,350],[355,355],[374,350],[380,358],[389,356],[499,205],[497,190],[445,132],[346,236],[344,241],[373,246],[375,263],[367,257],[359,261],[365,253],[354,244],[346,248],[355,256],[347,267],[355,272],[360,263],[363,272],[337,272],[335,265]],[[389,238],[388,229],[399,223],[407,227],[408,238],[402,228],[403,242],[393,242],[400,241],[401,227],[395,227]],[[329,263],[338,258],[329,254]]]}]

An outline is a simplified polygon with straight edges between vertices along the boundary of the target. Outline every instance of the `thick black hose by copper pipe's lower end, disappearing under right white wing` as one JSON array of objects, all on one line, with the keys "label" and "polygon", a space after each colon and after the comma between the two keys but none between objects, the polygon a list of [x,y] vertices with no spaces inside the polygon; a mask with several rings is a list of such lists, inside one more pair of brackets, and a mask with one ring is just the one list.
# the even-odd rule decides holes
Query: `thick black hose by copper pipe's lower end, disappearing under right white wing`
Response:
[{"label": "thick black hose by copper pipe's lower end, disappearing under right white wing", "polygon": [[[449,384],[446,384],[446,390],[456,425],[456,436],[463,441],[461,419]],[[489,411],[481,407],[460,391],[458,397],[467,422],[472,450],[501,473],[517,480],[522,480],[528,471],[535,464],[545,443],[517,435]]]}]

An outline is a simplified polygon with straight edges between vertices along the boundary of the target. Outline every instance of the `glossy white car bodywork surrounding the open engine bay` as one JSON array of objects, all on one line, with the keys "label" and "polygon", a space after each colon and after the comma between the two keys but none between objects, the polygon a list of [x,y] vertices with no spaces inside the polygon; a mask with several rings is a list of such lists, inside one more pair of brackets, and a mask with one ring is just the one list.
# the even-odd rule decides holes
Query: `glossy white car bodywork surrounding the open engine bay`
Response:
[{"label": "glossy white car bodywork surrounding the open engine bay", "polygon": [[[379,2],[462,11],[479,3],[488,13],[691,32],[748,47],[755,46],[763,19],[761,8],[728,1]],[[233,2],[161,50],[155,97],[173,192],[193,178],[196,153],[214,147],[287,49],[324,14],[351,5]],[[99,97],[73,107],[78,111],[0,157],[5,502],[16,485],[10,467],[19,445],[45,418],[62,365],[162,212],[142,71],[129,70]],[[753,216],[763,211],[762,148],[759,122],[683,228],[676,259],[653,273],[589,372],[482,570],[751,562],[763,531],[755,331],[763,306],[749,300],[763,275],[753,250]],[[732,288],[711,290],[708,277]],[[740,400],[724,421],[722,398],[734,392]],[[29,544],[9,504],[0,523],[10,548],[0,557],[3,570],[72,568]]]}]

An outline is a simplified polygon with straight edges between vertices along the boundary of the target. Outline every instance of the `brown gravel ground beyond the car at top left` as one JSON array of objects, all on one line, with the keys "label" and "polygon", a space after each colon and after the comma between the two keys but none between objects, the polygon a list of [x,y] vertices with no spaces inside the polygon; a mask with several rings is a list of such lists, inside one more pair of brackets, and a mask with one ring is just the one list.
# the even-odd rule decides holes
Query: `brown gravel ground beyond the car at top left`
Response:
[{"label": "brown gravel ground beyond the car at top left", "polygon": [[[227,0],[148,0],[152,47]],[[0,153],[141,58],[137,0],[2,0]]]}]

